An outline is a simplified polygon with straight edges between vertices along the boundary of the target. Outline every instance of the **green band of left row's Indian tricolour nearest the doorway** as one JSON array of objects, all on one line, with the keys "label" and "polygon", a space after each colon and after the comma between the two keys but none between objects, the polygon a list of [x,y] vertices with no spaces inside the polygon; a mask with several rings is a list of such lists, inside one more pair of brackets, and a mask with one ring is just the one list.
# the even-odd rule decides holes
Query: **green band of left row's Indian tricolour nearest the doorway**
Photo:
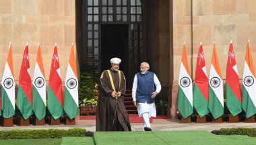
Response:
[{"label": "green band of left row's Indian tricolour nearest the doorway", "polygon": [[64,110],[70,119],[73,119],[76,115],[78,115],[78,107],[72,95],[69,93],[67,87],[65,87],[65,91],[64,91],[63,105],[64,105]]}]

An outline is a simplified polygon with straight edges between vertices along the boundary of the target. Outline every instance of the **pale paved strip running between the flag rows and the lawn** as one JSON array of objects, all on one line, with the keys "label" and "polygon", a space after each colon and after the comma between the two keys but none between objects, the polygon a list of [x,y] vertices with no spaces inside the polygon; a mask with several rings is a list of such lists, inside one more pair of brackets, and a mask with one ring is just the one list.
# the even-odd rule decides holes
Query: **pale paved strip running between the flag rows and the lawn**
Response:
[{"label": "pale paved strip running between the flag rows and the lawn", "polygon": [[[49,129],[49,128],[58,128],[58,129],[70,129],[70,128],[85,128],[88,131],[96,131],[96,120],[95,119],[77,119],[75,126],[13,126],[13,127],[0,127],[0,130],[27,130],[27,129]],[[143,124],[141,123],[132,123],[132,131],[142,131]],[[221,124],[181,124],[179,119],[153,119],[151,128],[153,131],[183,131],[183,130],[206,130],[211,132],[212,130],[220,130],[220,128],[256,128],[256,123],[221,123]]]}]

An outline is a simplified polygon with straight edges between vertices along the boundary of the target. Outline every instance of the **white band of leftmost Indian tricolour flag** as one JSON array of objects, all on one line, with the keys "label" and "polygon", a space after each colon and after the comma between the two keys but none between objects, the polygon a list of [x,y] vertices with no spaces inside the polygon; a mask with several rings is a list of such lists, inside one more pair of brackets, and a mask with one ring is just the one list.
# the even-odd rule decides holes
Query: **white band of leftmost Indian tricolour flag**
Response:
[{"label": "white band of leftmost Indian tricolour flag", "polygon": [[[5,88],[5,85],[3,85],[5,79],[7,78],[11,78],[13,81],[13,85],[9,89]],[[5,63],[5,70],[3,71],[3,78],[2,78],[1,85],[3,86],[3,88],[5,88],[5,92],[7,93],[9,100],[11,101],[11,105],[15,109],[15,81],[13,79],[13,76],[11,74],[11,69],[9,68],[9,64],[7,62]]]}]

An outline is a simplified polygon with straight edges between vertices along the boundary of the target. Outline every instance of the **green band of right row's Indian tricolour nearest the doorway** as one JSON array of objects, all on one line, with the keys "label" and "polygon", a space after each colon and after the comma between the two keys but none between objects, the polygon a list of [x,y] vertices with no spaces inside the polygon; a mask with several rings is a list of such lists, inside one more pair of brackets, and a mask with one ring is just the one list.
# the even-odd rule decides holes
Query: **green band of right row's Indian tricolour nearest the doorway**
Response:
[{"label": "green band of right row's Indian tricolour nearest the doorway", "polygon": [[178,91],[178,109],[184,119],[193,113],[193,107],[191,106],[191,103],[189,103],[189,100],[187,99],[181,87],[179,87]]}]

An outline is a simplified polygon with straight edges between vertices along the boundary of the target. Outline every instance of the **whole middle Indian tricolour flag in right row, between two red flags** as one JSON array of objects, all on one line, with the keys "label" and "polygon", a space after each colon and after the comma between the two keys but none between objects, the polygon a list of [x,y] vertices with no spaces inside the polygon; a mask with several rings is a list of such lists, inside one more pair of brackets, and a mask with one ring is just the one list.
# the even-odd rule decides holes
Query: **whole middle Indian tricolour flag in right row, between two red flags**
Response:
[{"label": "whole middle Indian tricolour flag in right row, between two red flags", "polygon": [[212,65],[210,70],[210,87],[209,87],[209,105],[208,108],[214,119],[218,119],[224,113],[224,95],[222,73],[216,52],[214,42],[214,50],[212,52]]}]

